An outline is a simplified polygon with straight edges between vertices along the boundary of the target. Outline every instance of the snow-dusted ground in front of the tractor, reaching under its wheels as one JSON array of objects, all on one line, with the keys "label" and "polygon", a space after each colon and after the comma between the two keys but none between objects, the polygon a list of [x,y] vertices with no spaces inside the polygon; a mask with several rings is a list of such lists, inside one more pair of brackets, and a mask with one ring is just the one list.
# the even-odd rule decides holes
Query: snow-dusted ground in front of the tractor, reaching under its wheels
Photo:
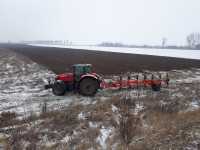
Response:
[{"label": "snow-dusted ground in front of the tractor, reaching under its wheels", "polygon": [[53,72],[11,51],[1,50],[0,54],[0,112],[29,115],[40,112],[44,103],[52,110],[71,102],[91,102],[91,98],[73,94],[54,96],[51,91],[44,90],[46,79],[55,77]]}]

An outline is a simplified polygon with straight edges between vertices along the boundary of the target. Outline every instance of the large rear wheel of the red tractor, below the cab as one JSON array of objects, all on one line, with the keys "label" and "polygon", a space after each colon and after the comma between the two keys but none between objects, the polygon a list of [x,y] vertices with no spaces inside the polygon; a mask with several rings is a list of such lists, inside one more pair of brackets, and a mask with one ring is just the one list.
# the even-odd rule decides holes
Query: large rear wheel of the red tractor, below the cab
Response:
[{"label": "large rear wheel of the red tractor, below the cab", "polygon": [[79,83],[79,93],[84,96],[94,96],[99,89],[99,82],[93,78],[84,78]]}]

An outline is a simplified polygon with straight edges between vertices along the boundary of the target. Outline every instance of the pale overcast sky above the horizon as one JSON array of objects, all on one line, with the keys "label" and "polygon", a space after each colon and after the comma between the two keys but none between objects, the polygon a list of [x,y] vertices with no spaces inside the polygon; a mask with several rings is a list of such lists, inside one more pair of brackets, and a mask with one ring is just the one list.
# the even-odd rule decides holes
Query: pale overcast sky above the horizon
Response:
[{"label": "pale overcast sky above the horizon", "polygon": [[0,0],[0,41],[184,45],[200,0]]}]

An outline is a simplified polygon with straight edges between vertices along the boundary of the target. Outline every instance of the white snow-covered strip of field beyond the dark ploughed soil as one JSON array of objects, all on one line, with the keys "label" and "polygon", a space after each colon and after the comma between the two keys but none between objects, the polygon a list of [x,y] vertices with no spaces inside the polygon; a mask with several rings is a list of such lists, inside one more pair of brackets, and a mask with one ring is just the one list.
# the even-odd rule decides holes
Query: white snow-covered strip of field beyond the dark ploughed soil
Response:
[{"label": "white snow-covered strip of field beyond the dark ploughed soil", "polygon": [[108,52],[118,52],[118,53],[128,53],[128,54],[145,54],[154,56],[167,56],[167,57],[200,60],[200,50],[123,48],[123,47],[98,47],[98,46],[64,46],[64,45],[42,45],[42,44],[33,44],[33,46],[86,49],[86,50],[96,50],[96,51],[108,51]]}]

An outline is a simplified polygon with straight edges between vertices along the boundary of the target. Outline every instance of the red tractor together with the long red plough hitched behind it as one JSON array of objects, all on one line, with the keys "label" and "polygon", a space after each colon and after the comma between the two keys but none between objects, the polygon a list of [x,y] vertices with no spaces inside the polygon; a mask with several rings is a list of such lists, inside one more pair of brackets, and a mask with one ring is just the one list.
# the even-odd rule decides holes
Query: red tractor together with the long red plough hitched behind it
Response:
[{"label": "red tractor together with the long red plough hitched behind it", "polygon": [[67,91],[79,92],[84,96],[94,96],[98,89],[105,88],[121,89],[151,86],[153,91],[160,91],[162,83],[167,85],[169,83],[168,75],[166,80],[162,80],[161,75],[159,75],[159,79],[155,79],[154,75],[151,76],[151,79],[147,79],[146,74],[144,74],[143,79],[139,79],[137,75],[135,79],[128,76],[127,80],[119,77],[117,81],[105,82],[100,75],[92,72],[91,64],[76,64],[72,68],[72,73],[57,75],[53,83],[49,81],[49,84],[45,85],[45,89],[51,88],[53,94],[57,96],[62,96]]}]

